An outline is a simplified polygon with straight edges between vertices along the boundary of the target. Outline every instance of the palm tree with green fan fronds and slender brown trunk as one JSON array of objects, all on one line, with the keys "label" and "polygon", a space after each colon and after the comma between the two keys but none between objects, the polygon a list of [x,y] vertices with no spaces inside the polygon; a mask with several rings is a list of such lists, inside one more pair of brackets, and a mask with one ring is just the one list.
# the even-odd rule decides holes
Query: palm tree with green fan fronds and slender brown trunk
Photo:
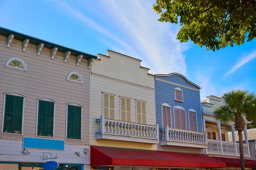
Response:
[{"label": "palm tree with green fan fronds and slender brown trunk", "polygon": [[244,118],[250,121],[256,119],[256,95],[246,90],[232,90],[225,93],[223,99],[223,106],[213,111],[213,115],[222,124],[235,123],[239,135],[241,170],[245,170],[242,131],[246,126]]}]

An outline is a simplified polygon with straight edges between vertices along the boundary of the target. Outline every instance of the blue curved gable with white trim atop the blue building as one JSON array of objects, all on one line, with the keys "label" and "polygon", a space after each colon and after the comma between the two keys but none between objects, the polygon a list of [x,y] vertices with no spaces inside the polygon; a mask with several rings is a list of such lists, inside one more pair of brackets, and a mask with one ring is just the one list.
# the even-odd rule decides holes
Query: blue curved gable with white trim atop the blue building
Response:
[{"label": "blue curved gable with white trim atop the blue building", "polygon": [[157,76],[158,79],[163,79],[169,82],[174,82],[180,85],[185,85],[191,88],[200,89],[199,86],[194,85],[192,82],[189,82],[186,78],[184,78],[181,74],[170,74],[169,76]]}]

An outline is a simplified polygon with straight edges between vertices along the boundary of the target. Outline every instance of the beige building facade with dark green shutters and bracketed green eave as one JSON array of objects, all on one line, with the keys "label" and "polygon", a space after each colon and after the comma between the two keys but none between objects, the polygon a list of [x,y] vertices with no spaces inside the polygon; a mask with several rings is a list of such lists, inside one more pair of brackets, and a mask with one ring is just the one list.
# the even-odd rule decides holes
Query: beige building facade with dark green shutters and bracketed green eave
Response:
[{"label": "beige building facade with dark green shutters and bracketed green eave", "polygon": [[0,28],[0,169],[90,168],[93,58]]}]

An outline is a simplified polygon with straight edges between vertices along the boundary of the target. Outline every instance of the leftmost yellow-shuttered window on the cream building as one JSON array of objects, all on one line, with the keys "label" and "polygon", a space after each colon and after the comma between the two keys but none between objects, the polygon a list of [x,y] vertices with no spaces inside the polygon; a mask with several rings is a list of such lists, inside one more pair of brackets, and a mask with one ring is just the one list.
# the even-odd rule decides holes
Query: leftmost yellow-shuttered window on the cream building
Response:
[{"label": "leftmost yellow-shuttered window on the cream building", "polygon": [[103,114],[105,119],[114,119],[115,105],[114,96],[111,94],[103,94]]}]

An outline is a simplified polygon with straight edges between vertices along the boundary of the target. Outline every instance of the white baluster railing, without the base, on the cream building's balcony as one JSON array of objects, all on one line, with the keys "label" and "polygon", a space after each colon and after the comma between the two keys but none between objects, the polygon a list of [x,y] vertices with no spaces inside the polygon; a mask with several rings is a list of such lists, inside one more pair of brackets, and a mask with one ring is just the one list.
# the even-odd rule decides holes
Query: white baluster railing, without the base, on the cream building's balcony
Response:
[{"label": "white baluster railing, without the base, on the cream building's balcony", "polygon": [[112,134],[159,140],[158,125],[143,125],[139,123],[104,119],[104,116],[100,116],[100,119],[97,119],[96,122],[99,126],[98,134]]}]

